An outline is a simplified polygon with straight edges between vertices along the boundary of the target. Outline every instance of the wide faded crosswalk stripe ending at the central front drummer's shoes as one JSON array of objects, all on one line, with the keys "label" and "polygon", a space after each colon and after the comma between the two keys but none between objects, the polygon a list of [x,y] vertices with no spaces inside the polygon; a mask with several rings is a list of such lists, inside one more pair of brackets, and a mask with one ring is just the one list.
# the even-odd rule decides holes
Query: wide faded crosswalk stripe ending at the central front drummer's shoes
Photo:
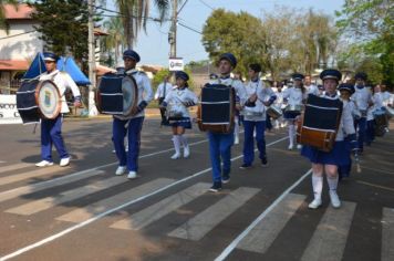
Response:
[{"label": "wide faded crosswalk stripe ending at the central front drummer's shoes", "polygon": [[110,228],[139,230],[207,192],[208,186],[209,184],[206,182],[193,185],[191,187],[132,215],[129,218],[122,219],[111,225]]}]

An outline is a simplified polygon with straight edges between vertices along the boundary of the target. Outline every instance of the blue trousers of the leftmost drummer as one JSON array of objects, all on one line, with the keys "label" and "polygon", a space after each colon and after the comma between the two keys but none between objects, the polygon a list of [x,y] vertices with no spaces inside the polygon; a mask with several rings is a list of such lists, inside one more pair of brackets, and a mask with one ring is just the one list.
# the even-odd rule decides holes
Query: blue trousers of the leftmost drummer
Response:
[{"label": "blue trousers of the leftmost drummer", "polygon": [[43,160],[53,161],[52,144],[56,148],[60,158],[69,157],[62,137],[62,115],[59,115],[54,119],[41,121],[41,158]]}]

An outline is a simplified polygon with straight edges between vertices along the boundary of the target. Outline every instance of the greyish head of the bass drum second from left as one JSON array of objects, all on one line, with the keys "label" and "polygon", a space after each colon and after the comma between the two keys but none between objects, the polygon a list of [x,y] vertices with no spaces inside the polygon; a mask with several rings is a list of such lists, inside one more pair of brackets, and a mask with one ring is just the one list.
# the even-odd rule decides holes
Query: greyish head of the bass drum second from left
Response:
[{"label": "greyish head of the bass drum second from left", "polygon": [[137,106],[138,88],[134,77],[125,76],[122,80],[123,92],[123,115],[131,116],[134,107]]}]

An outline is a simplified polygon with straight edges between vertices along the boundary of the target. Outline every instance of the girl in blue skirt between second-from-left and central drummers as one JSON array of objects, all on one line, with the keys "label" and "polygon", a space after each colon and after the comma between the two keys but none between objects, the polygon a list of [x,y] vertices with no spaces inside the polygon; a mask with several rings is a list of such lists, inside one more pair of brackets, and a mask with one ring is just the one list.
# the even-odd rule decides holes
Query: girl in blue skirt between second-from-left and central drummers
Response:
[{"label": "girl in blue skirt between second-from-left and central drummers", "polygon": [[[170,91],[162,103],[163,107],[167,107],[169,113],[169,124],[173,127],[173,142],[175,154],[172,159],[180,158],[180,145],[184,146],[184,158],[189,157],[190,149],[187,143],[187,138],[184,135],[186,128],[191,128],[190,115],[187,107],[195,106],[198,103],[198,98],[194,92],[188,90],[189,75],[185,72],[176,72],[176,86]],[[176,118],[172,118],[178,114]]]}]

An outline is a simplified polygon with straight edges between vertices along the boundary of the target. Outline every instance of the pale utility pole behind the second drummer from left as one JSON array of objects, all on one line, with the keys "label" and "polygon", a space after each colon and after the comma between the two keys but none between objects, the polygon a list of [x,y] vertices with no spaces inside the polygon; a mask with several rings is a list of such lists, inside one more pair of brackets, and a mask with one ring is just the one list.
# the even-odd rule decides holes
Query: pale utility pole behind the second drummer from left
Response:
[{"label": "pale utility pole behind the second drummer from left", "polygon": [[95,0],[87,0],[89,80],[91,81],[91,85],[89,86],[89,101],[87,101],[89,116],[96,116],[98,114],[94,102],[94,90],[96,87],[96,61],[95,61],[94,21],[93,21],[94,7],[95,7]]}]

